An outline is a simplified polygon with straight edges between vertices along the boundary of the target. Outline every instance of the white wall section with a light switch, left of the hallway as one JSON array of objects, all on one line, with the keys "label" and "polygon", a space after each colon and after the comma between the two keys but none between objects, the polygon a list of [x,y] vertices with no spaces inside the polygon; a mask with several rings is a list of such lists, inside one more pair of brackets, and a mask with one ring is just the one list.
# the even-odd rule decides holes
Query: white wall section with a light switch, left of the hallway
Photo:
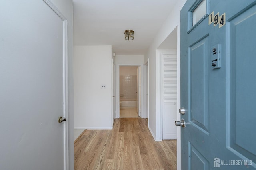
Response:
[{"label": "white wall section with a light switch, left of the hallway", "polygon": [[112,129],[111,122],[112,46],[74,46],[74,128]]}]

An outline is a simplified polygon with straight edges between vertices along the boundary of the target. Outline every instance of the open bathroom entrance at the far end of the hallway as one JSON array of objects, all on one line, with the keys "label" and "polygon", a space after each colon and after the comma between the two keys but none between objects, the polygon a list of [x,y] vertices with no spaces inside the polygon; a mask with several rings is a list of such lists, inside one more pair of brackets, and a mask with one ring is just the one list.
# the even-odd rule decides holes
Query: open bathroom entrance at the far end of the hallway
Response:
[{"label": "open bathroom entrance at the far end of the hallway", "polygon": [[120,117],[140,117],[140,66],[119,67]]}]

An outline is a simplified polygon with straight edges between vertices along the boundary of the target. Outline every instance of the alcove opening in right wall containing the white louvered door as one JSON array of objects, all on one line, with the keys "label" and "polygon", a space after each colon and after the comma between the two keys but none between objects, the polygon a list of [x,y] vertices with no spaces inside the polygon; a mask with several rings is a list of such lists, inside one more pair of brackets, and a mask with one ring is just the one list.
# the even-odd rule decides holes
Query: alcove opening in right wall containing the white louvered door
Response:
[{"label": "alcove opening in right wall containing the white louvered door", "polygon": [[159,62],[157,70],[158,82],[157,83],[157,100],[159,102],[159,138],[160,140],[176,139],[177,127],[174,121],[178,119],[178,29],[177,27],[169,34],[169,36],[158,47],[156,56]]}]

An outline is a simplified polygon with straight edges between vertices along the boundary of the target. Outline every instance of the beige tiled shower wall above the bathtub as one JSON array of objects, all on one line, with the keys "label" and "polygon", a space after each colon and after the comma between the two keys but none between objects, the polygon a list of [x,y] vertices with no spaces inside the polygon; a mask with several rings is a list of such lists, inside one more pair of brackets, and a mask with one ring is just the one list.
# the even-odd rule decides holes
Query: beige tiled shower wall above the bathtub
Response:
[{"label": "beige tiled shower wall above the bathtub", "polygon": [[136,75],[120,75],[120,101],[136,101],[137,99],[137,76]]}]

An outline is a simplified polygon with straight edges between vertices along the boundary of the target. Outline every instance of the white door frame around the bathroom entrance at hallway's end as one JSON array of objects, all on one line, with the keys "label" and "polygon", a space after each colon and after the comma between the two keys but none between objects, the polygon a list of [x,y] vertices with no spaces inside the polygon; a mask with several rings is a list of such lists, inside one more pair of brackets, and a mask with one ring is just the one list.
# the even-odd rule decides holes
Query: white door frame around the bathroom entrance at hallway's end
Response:
[{"label": "white door frame around the bathroom entrance at hallway's end", "polygon": [[120,66],[138,66],[140,67],[140,117],[144,118],[144,109],[142,107],[142,103],[144,103],[144,97],[143,91],[144,91],[144,84],[143,84],[143,64],[117,64],[116,65],[116,118],[120,118],[120,106],[119,106],[119,100],[120,100],[120,90],[119,90],[119,69]]}]

